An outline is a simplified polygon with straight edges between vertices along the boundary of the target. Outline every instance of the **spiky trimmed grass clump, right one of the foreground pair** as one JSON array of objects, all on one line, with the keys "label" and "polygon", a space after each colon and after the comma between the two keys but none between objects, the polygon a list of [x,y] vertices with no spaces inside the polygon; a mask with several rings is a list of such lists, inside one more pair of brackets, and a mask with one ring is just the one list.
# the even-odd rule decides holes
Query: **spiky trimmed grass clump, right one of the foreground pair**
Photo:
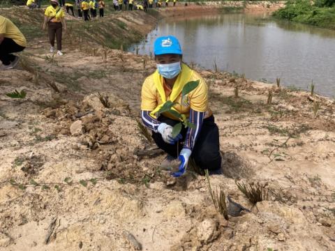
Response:
[{"label": "spiky trimmed grass clump, right one of the foreground pair", "polygon": [[237,188],[246,196],[248,201],[251,204],[255,205],[257,202],[266,200],[269,196],[269,189],[267,189],[267,183],[264,185],[261,183],[256,184],[248,184],[246,185],[244,182],[237,182],[235,181]]}]

